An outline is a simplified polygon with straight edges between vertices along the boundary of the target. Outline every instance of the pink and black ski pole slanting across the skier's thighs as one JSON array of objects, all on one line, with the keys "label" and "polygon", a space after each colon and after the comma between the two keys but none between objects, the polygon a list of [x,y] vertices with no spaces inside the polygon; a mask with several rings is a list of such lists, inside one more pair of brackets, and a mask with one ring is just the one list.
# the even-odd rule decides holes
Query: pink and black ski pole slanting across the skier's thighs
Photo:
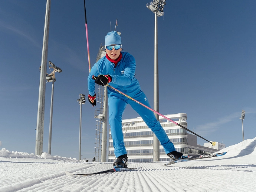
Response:
[{"label": "pink and black ski pole slanting across the skier's thighs", "polygon": [[[136,103],[138,103],[138,104],[142,105],[143,107],[145,107],[145,108],[147,108],[147,109],[151,110],[152,112],[154,112],[154,113],[156,113],[156,114],[158,114],[158,115],[160,115],[160,116],[164,117],[164,119],[167,119],[167,120],[169,120],[169,121],[173,122],[174,124],[176,124],[177,126],[180,126],[181,128],[184,128],[185,130],[189,131],[190,133],[193,133],[194,135],[196,135],[196,136],[198,136],[198,137],[202,138],[203,140],[208,141],[207,139],[205,139],[205,138],[201,137],[200,135],[198,135],[198,134],[194,133],[193,131],[189,130],[188,128],[186,128],[186,127],[182,126],[181,124],[178,124],[177,122],[175,122],[175,121],[173,121],[173,120],[169,119],[168,117],[165,117],[165,116],[164,116],[164,115],[162,115],[161,113],[158,113],[158,112],[157,112],[157,111],[155,111],[154,109],[151,109],[150,107],[148,107],[148,106],[144,105],[143,103],[141,103],[141,102],[137,101],[136,99],[133,99],[132,97],[130,97],[130,96],[126,95],[125,93],[123,93],[123,92],[121,92],[121,91],[117,90],[116,88],[113,88],[111,85],[108,85],[108,84],[107,84],[106,86],[108,86],[108,87],[109,87],[109,88],[111,88],[111,89],[114,89],[116,92],[118,92],[118,93],[120,93],[120,94],[124,95],[124,96],[125,96],[125,97],[127,97],[128,99],[131,99],[131,100],[135,101]],[[208,142],[209,142],[209,143],[211,143],[211,144],[213,144],[213,142],[211,142],[211,141],[208,141]],[[214,145],[214,144],[213,144],[213,145]]]}]

